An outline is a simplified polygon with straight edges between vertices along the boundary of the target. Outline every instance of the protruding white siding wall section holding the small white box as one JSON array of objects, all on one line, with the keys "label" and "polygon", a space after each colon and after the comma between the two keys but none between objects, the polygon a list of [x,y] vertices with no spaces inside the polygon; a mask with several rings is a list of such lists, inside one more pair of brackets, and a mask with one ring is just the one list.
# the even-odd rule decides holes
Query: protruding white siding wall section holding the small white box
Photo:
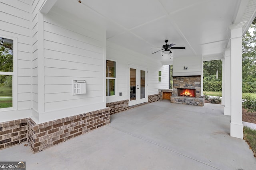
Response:
[{"label": "protruding white siding wall section holding the small white box", "polygon": [[[42,17],[44,55],[38,63],[38,68],[43,69],[38,70],[38,82],[43,84],[38,86],[38,98],[42,96],[43,100],[38,103],[42,108],[33,112],[34,121],[41,123],[105,108],[106,31],[74,20],[74,16],[58,8]],[[73,95],[73,80],[86,80],[86,94]]]}]

